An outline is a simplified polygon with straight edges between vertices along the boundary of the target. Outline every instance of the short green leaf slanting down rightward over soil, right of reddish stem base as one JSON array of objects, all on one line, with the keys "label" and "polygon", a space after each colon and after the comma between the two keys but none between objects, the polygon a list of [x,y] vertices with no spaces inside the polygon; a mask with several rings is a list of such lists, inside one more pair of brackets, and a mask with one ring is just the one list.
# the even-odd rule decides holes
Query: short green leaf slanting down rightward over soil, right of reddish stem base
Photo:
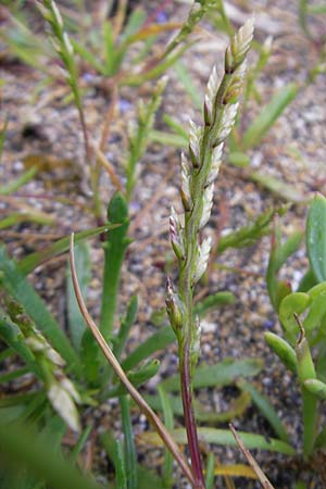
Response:
[{"label": "short green leaf slanting down rightward over soil, right of reddish stem base", "polygon": [[275,435],[277,435],[280,440],[286,441],[288,443],[289,436],[286,431],[283,422],[278,417],[277,412],[271,404],[268,398],[262,394],[252,384],[246,383],[244,380],[239,380],[237,383],[237,386],[240,389],[244,390],[246,392],[250,393],[252,402],[256,405],[262,415],[267,419],[269,425],[273,427]]}]

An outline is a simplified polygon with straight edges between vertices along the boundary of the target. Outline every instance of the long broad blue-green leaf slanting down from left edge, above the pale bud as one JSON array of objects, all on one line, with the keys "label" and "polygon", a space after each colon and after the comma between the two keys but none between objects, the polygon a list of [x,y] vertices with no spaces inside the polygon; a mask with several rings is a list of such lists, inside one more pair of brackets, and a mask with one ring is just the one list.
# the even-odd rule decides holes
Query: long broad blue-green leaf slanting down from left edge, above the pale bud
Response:
[{"label": "long broad blue-green leaf slanting down from left edge, above the pale bud", "polygon": [[80,373],[79,359],[65,334],[46,308],[42,299],[24,277],[15,261],[8,256],[4,247],[0,248],[0,288],[4,288],[23,305],[54,350],[66,361],[68,369],[78,375]]}]

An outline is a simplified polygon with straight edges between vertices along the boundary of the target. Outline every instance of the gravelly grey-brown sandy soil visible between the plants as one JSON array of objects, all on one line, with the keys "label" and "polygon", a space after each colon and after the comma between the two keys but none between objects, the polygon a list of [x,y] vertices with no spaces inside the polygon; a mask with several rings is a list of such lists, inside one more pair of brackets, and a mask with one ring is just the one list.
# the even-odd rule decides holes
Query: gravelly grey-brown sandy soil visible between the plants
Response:
[{"label": "gravelly grey-brown sandy soil visible between the plants", "polygon": [[[70,2],[60,2],[63,9],[71,9]],[[90,2],[92,9],[100,2]],[[136,2],[134,2],[136,3]],[[143,1],[142,8],[152,22],[183,22],[187,16],[187,1]],[[263,138],[262,142],[249,151],[251,170],[274,176],[292,186],[296,202],[283,217],[283,233],[288,236],[294,229],[303,229],[306,214],[306,199],[314,191],[325,189],[326,154],[326,74],[325,71],[309,83],[311,70],[318,61],[322,47],[318,40],[325,35],[325,16],[313,16],[310,29],[313,38],[305,36],[298,21],[298,2],[296,0],[234,0],[226,4],[227,13],[234,27],[241,25],[255,12],[255,37],[263,42],[273,36],[271,59],[256,79],[256,89],[261,102],[250,100],[242,117],[243,128],[248,127],[262,104],[266,103],[275,91],[286,84],[300,85],[300,92],[286,109],[276,124]],[[2,9],[2,7],[1,7]],[[39,35],[42,23],[26,2],[26,17],[34,21]],[[29,11],[28,11],[29,9]],[[8,28],[8,11],[1,10],[2,25]],[[154,45],[153,52],[160,51],[171,39],[172,34],[163,34]],[[205,84],[214,64],[222,73],[223,52],[227,36],[205,20],[196,32],[196,42],[183,57],[186,78],[193,85],[196,93],[203,100]],[[139,47],[135,45],[135,52]],[[325,48],[324,48],[325,49]],[[129,57],[123,68],[128,68]],[[252,50],[249,66],[256,61],[258,54]],[[1,163],[0,185],[18,177],[24,170],[37,167],[34,179],[11,196],[0,196],[0,215],[4,218],[13,212],[38,211],[48,220],[47,224],[28,222],[28,218],[0,231],[0,239],[10,253],[20,259],[35,250],[40,250],[72,230],[75,233],[96,226],[89,212],[91,192],[89,171],[85,165],[83,134],[78,114],[70,101],[70,90],[60,80],[45,83],[45,74],[34,70],[1,45],[1,121],[8,115],[7,138]],[[48,58],[48,67],[53,68]],[[161,109],[156,115],[156,130],[171,131],[163,121],[163,114],[174,117],[188,130],[189,118],[201,121],[201,112],[193,105],[193,100],[185,89],[181,68],[168,70],[168,84]],[[120,87],[112,99],[110,84],[101,77],[80,66],[80,84],[84,89],[83,103],[86,122],[91,140],[98,142],[108,109],[113,106],[110,115],[109,133],[104,145],[108,161],[114,166],[122,183],[125,184],[124,161],[127,147],[127,127],[136,121],[136,108],[140,98],[148,101],[154,83],[140,87]],[[186,82],[187,82],[186,79]],[[113,105],[113,102],[114,105]],[[242,129],[243,129],[242,128]],[[164,308],[165,277],[170,274],[176,278],[176,267],[168,242],[170,208],[180,210],[178,197],[180,148],[162,146],[151,141],[137,165],[137,185],[130,204],[129,235],[133,243],[128,249],[123,268],[120,312],[123,313],[131,294],[138,294],[139,312],[137,323],[131,329],[128,351],[142,342],[160,327],[154,324],[153,315]],[[108,173],[102,172],[101,197],[106,203],[114,191]],[[287,191],[286,191],[287,193]],[[298,197],[299,195],[299,197]],[[291,200],[291,199],[290,199]],[[233,166],[225,155],[215,187],[214,208],[209,223],[209,234],[217,243],[218,236],[239,228],[264,210],[278,208],[288,199],[272,192],[264,186],[253,183],[248,168]],[[97,240],[91,242],[92,279],[88,294],[88,306],[97,321],[100,313],[101,269],[103,254]],[[221,266],[212,266],[209,278],[197,288],[198,298],[205,298],[216,291],[228,290],[235,294],[235,303],[222,309],[211,310],[202,321],[202,339],[200,364],[215,364],[226,358],[261,358],[264,368],[252,379],[253,385],[269,398],[278,415],[285,423],[292,444],[300,453],[302,425],[300,418],[300,393],[292,375],[277,362],[264,342],[264,331],[281,333],[276,314],[273,312],[265,283],[265,273],[271,249],[271,238],[264,237],[254,246],[239,250],[228,250],[216,258]],[[223,266],[222,266],[223,265]],[[290,280],[293,288],[298,286],[308,266],[304,246],[283,269],[283,276]],[[65,301],[66,255],[50,260],[39,266],[30,280],[45,298],[63,328],[66,327]],[[163,319],[163,324],[166,319]],[[160,322],[159,322],[160,323]],[[167,351],[156,353],[161,368],[148,385],[148,391],[154,392],[162,378],[177,372],[177,349],[171,346]],[[220,390],[208,388],[197,392],[200,401],[212,412],[228,410],[230,402],[239,394],[236,387]],[[120,423],[116,403],[104,403],[91,414],[95,423],[93,440],[98,430],[104,427],[116,428]],[[135,409],[133,413],[135,432],[139,444],[141,462],[151,467],[162,463],[161,450],[145,448],[141,432],[147,428],[146,421]],[[114,419],[114,422],[113,422]],[[325,421],[325,418],[324,418]],[[236,428],[243,431],[274,437],[273,429],[254,405],[235,418]],[[181,419],[176,423],[181,424]],[[216,426],[216,425],[215,425]],[[227,427],[227,423],[218,424]],[[243,463],[237,449],[208,447],[213,450],[222,464]],[[89,451],[88,451],[89,454]],[[319,475],[318,465],[313,469],[304,466],[299,459],[287,459],[263,451],[253,451],[256,461],[265,471],[277,489],[294,488],[298,474],[306,480],[306,488],[326,487]],[[96,442],[91,448],[92,471],[103,471],[108,475],[108,463]],[[89,463],[89,461],[88,461]],[[258,481],[235,478],[234,482],[220,480],[218,487],[259,488]],[[181,487],[181,480],[176,487]],[[234,484],[234,485],[233,485]],[[185,485],[186,487],[186,485]],[[216,482],[217,487],[217,482]]]}]

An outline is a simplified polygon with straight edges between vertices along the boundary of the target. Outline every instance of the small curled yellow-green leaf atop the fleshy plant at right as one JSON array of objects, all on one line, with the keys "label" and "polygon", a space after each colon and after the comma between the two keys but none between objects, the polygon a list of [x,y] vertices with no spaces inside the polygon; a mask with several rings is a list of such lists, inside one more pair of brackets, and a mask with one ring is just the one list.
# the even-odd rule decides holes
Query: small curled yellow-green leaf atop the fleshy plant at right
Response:
[{"label": "small curled yellow-green leaf atop the fleshy plant at right", "polygon": [[287,339],[292,346],[296,344],[299,335],[299,326],[293,314],[300,315],[306,310],[310,303],[311,298],[304,292],[289,293],[280,303],[279,319]]}]

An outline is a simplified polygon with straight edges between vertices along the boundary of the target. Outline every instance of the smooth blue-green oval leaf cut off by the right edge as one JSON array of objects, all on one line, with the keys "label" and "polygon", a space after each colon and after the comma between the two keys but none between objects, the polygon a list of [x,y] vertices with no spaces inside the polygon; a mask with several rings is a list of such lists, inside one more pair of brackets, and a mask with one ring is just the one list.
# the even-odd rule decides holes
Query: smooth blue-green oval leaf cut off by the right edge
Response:
[{"label": "smooth blue-green oval leaf cut off by the right edge", "polygon": [[317,280],[326,280],[326,199],[321,193],[316,195],[309,210],[306,250]]}]

